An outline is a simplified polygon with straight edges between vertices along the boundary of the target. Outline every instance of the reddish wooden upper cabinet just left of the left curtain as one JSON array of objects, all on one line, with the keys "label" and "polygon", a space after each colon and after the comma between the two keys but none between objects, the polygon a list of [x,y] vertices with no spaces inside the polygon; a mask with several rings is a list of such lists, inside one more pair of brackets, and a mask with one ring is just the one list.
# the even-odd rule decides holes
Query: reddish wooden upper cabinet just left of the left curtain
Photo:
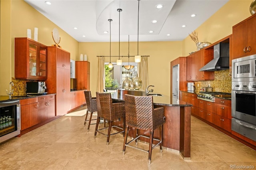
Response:
[{"label": "reddish wooden upper cabinet just left of the left curtain", "polygon": [[76,86],[78,90],[90,90],[90,62],[76,61]]}]

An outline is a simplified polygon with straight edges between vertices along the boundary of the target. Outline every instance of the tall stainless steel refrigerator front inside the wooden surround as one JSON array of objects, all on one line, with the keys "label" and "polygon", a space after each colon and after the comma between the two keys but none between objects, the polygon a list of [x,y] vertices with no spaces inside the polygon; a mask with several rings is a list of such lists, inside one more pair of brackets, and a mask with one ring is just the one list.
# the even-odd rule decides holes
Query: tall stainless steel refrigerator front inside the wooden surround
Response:
[{"label": "tall stainless steel refrigerator front inside the wooden surround", "polygon": [[180,65],[172,67],[172,102],[178,102],[180,91]]}]

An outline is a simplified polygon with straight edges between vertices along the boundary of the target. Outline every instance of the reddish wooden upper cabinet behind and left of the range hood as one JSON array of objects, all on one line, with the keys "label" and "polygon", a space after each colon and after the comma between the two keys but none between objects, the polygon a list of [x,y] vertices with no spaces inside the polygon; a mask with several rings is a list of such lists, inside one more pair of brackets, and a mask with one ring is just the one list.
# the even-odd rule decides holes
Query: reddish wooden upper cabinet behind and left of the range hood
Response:
[{"label": "reddish wooden upper cabinet behind and left of the range hood", "polygon": [[199,71],[204,65],[213,59],[213,50],[201,49],[187,58],[187,81],[214,80],[214,71]]}]

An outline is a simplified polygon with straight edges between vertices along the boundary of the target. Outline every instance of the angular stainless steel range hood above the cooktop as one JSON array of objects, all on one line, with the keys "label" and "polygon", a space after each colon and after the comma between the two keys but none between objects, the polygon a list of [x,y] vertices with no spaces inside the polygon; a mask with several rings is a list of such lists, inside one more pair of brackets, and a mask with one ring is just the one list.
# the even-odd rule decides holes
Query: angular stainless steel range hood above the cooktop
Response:
[{"label": "angular stainless steel range hood above the cooktop", "polygon": [[219,71],[229,69],[229,43],[214,45],[214,58],[199,71]]}]

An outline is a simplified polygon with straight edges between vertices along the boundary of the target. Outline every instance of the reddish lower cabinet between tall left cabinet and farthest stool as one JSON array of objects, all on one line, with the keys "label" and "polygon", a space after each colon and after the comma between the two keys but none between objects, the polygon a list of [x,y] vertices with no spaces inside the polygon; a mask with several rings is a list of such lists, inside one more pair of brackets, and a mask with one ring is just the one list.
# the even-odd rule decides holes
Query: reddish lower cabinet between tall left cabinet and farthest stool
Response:
[{"label": "reddish lower cabinet between tall left cabinet and farthest stool", "polygon": [[71,109],[74,109],[76,107],[80,107],[81,105],[84,105],[85,102],[85,96],[84,96],[84,90],[80,91],[71,91],[70,92],[70,103],[71,103]]}]

